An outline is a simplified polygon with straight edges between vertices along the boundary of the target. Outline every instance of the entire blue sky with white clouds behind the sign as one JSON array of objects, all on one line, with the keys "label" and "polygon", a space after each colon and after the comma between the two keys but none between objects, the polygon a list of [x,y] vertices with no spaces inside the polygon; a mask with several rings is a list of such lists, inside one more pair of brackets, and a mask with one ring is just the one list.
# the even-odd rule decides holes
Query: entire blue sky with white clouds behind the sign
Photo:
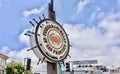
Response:
[{"label": "entire blue sky with white clouds behind the sign", "polygon": [[[30,48],[29,21],[45,14],[50,0],[0,0],[0,53],[8,61],[38,59]],[[63,24],[72,45],[71,60],[97,59],[99,64],[120,66],[120,0],[54,0],[56,19]]]}]

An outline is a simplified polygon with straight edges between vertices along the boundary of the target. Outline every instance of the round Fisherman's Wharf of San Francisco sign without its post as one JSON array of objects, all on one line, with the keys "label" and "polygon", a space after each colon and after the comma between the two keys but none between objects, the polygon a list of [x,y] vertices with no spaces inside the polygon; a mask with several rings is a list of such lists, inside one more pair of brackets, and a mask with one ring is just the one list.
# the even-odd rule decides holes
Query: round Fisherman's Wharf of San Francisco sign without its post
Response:
[{"label": "round Fisherman's Wharf of San Francisco sign without its post", "polygon": [[30,42],[35,55],[50,62],[64,60],[69,53],[69,40],[62,26],[56,21],[44,19],[37,24]]}]

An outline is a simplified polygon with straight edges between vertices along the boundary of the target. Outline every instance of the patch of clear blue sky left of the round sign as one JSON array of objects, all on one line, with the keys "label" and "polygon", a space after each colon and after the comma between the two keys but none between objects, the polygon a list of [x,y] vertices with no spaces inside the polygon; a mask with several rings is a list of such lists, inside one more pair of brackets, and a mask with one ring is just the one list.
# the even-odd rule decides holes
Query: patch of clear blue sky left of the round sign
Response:
[{"label": "patch of clear blue sky left of the round sign", "polygon": [[9,46],[13,49],[25,47],[18,40],[18,35],[30,27],[29,20],[23,16],[24,10],[39,8],[48,1],[1,0],[0,2],[0,47]]}]

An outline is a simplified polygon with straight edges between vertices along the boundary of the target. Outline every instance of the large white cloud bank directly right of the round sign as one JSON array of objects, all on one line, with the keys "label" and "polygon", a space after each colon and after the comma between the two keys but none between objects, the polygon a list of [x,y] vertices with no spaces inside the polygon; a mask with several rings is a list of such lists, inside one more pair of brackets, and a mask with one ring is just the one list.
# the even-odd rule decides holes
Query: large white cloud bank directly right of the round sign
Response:
[{"label": "large white cloud bank directly right of the round sign", "polygon": [[[98,59],[100,64],[120,66],[120,14],[109,14],[97,27],[65,24],[73,47],[71,59]],[[102,32],[104,29],[105,31]]]}]

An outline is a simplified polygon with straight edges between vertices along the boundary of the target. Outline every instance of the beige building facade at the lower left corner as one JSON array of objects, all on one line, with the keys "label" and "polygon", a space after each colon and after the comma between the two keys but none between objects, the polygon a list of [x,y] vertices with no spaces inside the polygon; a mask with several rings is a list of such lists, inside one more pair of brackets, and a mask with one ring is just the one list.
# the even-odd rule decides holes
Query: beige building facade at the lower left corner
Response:
[{"label": "beige building facade at the lower left corner", "polygon": [[5,67],[7,65],[8,56],[0,54],[0,74],[4,74]]}]

